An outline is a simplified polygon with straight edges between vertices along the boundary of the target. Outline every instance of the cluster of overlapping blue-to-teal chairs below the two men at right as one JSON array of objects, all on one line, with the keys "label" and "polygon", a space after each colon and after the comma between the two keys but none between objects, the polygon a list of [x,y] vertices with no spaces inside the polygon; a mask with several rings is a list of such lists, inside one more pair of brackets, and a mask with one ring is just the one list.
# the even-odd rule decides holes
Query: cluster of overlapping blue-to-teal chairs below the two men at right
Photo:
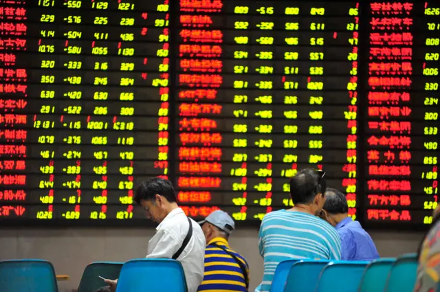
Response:
[{"label": "cluster of overlapping blue-to-teal chairs below the two men at right", "polygon": [[285,260],[271,292],[412,292],[417,255],[366,261]]}]

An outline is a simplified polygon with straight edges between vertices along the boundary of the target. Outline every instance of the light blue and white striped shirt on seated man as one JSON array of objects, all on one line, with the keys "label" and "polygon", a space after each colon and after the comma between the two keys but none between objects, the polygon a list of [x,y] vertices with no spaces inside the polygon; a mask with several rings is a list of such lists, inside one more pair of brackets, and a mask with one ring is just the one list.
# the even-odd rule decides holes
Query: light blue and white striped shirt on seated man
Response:
[{"label": "light blue and white striped shirt on seated man", "polygon": [[280,210],[266,214],[259,233],[264,258],[263,282],[256,292],[269,292],[276,266],[283,260],[340,260],[341,240],[326,221],[303,212]]}]

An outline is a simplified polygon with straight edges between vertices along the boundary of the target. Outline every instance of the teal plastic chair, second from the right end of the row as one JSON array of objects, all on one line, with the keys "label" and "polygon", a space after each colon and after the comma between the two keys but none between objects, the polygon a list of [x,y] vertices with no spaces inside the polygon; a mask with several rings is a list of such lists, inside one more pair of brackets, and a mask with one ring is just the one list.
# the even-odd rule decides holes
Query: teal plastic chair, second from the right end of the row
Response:
[{"label": "teal plastic chair, second from the right end of the row", "polygon": [[395,258],[379,258],[366,266],[358,292],[384,292]]}]

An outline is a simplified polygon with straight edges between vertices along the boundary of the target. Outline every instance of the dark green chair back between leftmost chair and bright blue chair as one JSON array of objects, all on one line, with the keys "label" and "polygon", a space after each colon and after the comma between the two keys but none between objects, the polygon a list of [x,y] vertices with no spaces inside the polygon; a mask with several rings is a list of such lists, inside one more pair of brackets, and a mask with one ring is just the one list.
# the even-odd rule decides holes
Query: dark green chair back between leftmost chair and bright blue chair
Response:
[{"label": "dark green chair back between leftmost chair and bright blue chair", "polygon": [[81,277],[78,292],[95,292],[98,288],[106,286],[101,276],[106,279],[115,280],[119,278],[123,262],[92,262],[85,267]]}]

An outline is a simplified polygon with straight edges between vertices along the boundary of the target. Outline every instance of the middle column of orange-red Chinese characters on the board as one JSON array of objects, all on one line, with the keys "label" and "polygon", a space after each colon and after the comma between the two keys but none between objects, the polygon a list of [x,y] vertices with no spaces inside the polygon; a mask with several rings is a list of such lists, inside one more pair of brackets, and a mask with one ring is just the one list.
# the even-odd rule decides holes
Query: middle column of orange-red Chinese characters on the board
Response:
[{"label": "middle column of orange-red Chinese characters on the board", "polygon": [[[221,157],[219,148],[223,137],[218,131],[223,106],[216,104],[218,89],[223,84],[219,75],[223,32],[212,30],[214,14],[221,12],[222,1],[182,0],[179,21],[184,29],[179,36],[178,68],[179,119],[177,127],[178,150],[177,186],[182,203],[203,203],[211,199],[210,190],[221,186]],[[186,13],[192,12],[192,13]],[[218,176],[218,177],[217,177]],[[199,189],[205,189],[200,191]],[[210,207],[187,207],[192,216],[205,216]]]}]

